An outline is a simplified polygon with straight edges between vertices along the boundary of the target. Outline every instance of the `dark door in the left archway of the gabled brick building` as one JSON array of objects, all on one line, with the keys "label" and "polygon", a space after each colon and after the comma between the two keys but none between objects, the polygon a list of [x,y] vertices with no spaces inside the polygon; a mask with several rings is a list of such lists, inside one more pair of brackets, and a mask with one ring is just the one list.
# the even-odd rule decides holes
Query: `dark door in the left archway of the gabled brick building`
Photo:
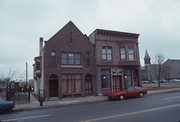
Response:
[{"label": "dark door in the left archway of the gabled brick building", "polygon": [[49,97],[57,97],[58,96],[58,80],[53,79],[49,80]]}]

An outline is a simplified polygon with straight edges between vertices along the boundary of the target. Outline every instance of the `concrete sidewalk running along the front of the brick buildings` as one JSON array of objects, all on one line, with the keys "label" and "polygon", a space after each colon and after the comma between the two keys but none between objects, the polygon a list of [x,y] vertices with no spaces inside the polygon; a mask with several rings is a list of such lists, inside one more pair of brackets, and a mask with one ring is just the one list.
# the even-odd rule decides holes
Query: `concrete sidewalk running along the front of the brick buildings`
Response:
[{"label": "concrete sidewalk running along the front of the brick buildings", "polygon": [[[161,89],[148,91],[148,95],[160,94],[160,93],[169,93],[169,92],[177,92],[180,91],[180,88],[172,88],[172,89]],[[30,103],[28,104],[18,104],[15,106],[14,111],[23,111],[23,110],[32,110],[32,109],[42,109],[42,108],[50,108],[50,107],[61,107],[68,105],[76,105],[76,104],[88,104],[106,101],[107,96],[87,96],[87,97],[74,97],[74,98],[63,98],[62,100],[49,100],[44,101],[43,106],[40,106],[40,103],[36,98],[31,95]]]}]

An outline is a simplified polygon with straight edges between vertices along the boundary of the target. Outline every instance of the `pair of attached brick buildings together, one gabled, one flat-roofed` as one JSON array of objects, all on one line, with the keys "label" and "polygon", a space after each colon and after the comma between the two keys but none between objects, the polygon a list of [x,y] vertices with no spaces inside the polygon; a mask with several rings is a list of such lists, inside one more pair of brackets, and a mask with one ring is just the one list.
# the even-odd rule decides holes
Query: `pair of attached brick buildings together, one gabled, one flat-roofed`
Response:
[{"label": "pair of attached brick buildings together, one gabled, one flat-roofed", "polygon": [[63,98],[139,86],[138,36],[96,29],[87,37],[70,21],[48,41],[40,38],[36,91],[44,89],[46,98]]}]

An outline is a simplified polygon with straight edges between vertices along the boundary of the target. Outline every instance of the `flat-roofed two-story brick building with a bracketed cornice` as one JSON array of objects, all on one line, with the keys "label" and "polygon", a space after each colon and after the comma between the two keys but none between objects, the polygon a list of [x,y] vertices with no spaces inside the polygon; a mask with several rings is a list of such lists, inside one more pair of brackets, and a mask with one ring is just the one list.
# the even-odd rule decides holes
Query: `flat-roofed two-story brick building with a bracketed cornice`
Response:
[{"label": "flat-roofed two-story brick building with a bracketed cornice", "polygon": [[139,34],[101,29],[89,36],[95,45],[98,94],[140,86],[138,37]]}]

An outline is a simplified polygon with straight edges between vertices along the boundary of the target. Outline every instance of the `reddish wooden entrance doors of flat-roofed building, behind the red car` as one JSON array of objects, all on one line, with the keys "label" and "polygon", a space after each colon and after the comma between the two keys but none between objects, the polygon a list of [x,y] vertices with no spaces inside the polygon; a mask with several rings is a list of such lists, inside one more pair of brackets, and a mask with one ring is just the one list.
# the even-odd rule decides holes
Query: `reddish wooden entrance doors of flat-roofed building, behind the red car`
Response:
[{"label": "reddish wooden entrance doors of flat-roofed building, behind the red car", "polygon": [[117,91],[122,90],[122,78],[121,78],[121,76],[113,76],[112,89],[113,89],[113,92],[117,92]]}]

